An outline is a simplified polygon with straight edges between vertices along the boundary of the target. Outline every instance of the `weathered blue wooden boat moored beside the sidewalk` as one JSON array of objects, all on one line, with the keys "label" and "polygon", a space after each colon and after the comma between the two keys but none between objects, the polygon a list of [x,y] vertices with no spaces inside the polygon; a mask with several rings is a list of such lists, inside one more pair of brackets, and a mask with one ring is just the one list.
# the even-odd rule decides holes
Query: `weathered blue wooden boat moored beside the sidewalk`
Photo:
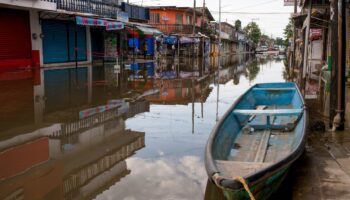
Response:
[{"label": "weathered blue wooden boat moored beside the sidewalk", "polygon": [[254,85],[209,136],[209,180],[227,199],[268,199],[302,154],[306,124],[305,104],[294,83]]}]

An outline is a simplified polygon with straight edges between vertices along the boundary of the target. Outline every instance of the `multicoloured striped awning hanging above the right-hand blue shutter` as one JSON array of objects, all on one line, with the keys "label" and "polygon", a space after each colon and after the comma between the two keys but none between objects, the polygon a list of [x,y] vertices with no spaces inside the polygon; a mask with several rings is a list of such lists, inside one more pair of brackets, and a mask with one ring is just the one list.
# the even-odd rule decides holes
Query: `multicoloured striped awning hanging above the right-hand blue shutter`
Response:
[{"label": "multicoloured striped awning hanging above the right-hand blue shutter", "polygon": [[124,29],[124,23],[117,21],[109,21],[106,19],[97,19],[92,17],[76,16],[76,23],[83,26],[105,26],[107,30]]}]

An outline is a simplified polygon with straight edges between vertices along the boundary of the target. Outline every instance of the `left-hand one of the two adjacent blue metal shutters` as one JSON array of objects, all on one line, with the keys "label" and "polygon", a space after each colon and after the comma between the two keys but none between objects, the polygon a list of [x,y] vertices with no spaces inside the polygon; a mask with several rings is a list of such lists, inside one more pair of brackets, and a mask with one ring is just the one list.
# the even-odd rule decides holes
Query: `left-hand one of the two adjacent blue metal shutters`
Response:
[{"label": "left-hand one of the two adjacent blue metal shutters", "polygon": [[68,61],[67,26],[59,20],[42,21],[44,63]]}]

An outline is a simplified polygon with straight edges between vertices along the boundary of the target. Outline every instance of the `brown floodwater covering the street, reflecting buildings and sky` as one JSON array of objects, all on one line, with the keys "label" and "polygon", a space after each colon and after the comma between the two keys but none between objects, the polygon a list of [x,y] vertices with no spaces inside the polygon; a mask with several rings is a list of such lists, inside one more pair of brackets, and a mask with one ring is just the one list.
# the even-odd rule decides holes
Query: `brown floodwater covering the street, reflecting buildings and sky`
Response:
[{"label": "brown floodwater covering the street, reflecting buildings and sky", "polygon": [[0,74],[0,199],[204,199],[208,135],[279,57]]}]

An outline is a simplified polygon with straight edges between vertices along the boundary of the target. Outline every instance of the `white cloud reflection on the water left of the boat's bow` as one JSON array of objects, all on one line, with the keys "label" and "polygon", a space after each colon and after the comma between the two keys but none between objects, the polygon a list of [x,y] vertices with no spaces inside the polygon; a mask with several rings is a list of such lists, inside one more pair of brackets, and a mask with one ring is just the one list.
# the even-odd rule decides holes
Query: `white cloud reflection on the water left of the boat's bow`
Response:
[{"label": "white cloud reflection on the water left of the boat's bow", "polygon": [[131,173],[96,199],[203,199],[207,174],[196,156],[127,160]]}]

